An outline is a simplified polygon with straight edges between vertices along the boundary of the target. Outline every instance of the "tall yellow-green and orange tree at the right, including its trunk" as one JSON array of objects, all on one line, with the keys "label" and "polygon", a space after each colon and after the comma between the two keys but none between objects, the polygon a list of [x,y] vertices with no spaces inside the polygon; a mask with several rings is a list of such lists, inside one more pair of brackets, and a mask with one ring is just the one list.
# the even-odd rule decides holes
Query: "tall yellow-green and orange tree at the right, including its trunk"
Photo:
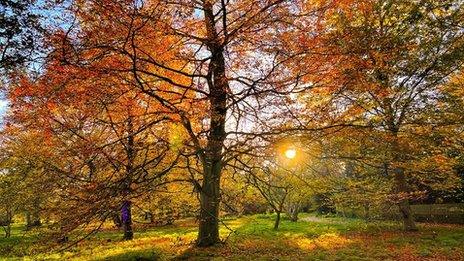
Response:
[{"label": "tall yellow-green and orange tree at the right, including its trunk", "polygon": [[406,230],[416,229],[408,196],[414,171],[408,166],[420,157],[423,148],[417,146],[425,141],[414,134],[433,132],[429,113],[437,105],[439,87],[462,66],[462,5],[347,1],[326,20],[332,30],[325,45],[335,61],[329,81],[338,86],[332,92],[337,98],[330,101],[337,108],[335,118],[368,127],[386,142]]}]

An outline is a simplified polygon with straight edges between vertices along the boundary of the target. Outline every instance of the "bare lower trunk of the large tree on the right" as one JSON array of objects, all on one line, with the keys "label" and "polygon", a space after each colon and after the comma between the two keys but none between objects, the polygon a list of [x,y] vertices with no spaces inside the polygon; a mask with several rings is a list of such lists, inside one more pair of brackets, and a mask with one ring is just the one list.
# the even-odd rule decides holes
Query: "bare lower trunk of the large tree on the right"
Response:
[{"label": "bare lower trunk of the large tree on the right", "polygon": [[411,205],[409,204],[409,199],[406,195],[408,193],[408,185],[404,175],[404,170],[402,168],[395,168],[394,173],[396,191],[401,197],[398,202],[398,207],[403,218],[404,230],[417,231],[414,216],[411,211]]}]

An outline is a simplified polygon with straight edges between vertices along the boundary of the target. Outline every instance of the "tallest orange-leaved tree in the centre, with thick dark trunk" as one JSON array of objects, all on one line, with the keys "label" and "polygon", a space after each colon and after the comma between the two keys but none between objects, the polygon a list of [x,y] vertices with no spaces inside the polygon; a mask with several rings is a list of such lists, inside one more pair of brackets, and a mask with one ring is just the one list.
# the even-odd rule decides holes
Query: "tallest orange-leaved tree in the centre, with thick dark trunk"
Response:
[{"label": "tallest orange-leaved tree in the centre, with thick dark trunk", "polygon": [[[64,60],[117,73],[138,93],[161,105],[188,134],[190,152],[184,156],[200,193],[199,246],[220,241],[224,167],[262,136],[241,124],[254,121],[269,134],[276,119],[261,112],[285,111],[279,97],[309,87],[300,84],[307,71],[287,71],[287,61],[305,53],[282,52],[287,32],[306,34],[314,29],[302,30],[295,22],[315,17],[306,4],[74,1],[71,6],[79,26],[71,27],[59,41],[68,44],[59,49],[65,52]],[[101,62],[108,57],[121,57],[122,62]]]}]

